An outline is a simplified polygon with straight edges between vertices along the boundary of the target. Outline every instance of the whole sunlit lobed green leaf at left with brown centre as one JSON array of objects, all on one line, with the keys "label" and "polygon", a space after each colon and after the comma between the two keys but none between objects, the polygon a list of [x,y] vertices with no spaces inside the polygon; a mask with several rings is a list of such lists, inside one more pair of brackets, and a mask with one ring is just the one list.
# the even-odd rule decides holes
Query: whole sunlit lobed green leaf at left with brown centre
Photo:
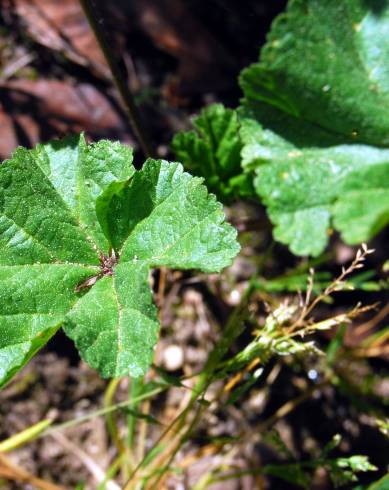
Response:
[{"label": "whole sunlit lobed green leaf at left with brown centre", "polygon": [[0,386],[61,326],[103,376],[143,374],[159,327],[150,268],[218,271],[237,254],[200,179],[154,160],[135,172],[131,160],[119,143],[81,137],[21,148],[0,167]]}]

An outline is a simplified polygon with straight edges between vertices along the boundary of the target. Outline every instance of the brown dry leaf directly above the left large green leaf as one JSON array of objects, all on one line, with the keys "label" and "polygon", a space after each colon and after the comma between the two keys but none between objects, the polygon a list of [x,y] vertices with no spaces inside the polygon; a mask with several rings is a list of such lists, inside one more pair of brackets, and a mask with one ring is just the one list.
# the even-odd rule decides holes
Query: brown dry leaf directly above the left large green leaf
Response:
[{"label": "brown dry leaf directly above the left large green leaf", "polygon": [[131,142],[119,112],[92,85],[60,80],[0,83],[0,157],[18,145],[34,146],[69,132]]}]

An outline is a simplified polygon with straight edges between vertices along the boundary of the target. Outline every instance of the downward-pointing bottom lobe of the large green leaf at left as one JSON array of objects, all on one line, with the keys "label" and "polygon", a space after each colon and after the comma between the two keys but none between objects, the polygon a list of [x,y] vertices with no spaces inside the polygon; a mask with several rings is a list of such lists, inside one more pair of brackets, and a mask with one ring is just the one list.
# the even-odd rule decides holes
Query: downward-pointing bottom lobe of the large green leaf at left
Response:
[{"label": "downward-pointing bottom lobe of the large green leaf at left", "polygon": [[143,375],[153,359],[159,323],[144,262],[123,263],[68,313],[66,334],[103,377]]}]

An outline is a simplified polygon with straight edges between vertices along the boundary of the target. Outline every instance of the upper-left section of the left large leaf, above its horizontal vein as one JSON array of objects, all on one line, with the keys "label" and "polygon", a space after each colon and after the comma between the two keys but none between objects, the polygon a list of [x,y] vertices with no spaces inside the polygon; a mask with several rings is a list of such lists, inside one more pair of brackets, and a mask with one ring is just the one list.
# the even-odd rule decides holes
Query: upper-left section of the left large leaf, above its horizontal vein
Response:
[{"label": "upper-left section of the left large leaf, above its horizontal vein", "polygon": [[20,148],[0,172],[0,265],[36,262],[98,265],[98,257],[36,153]]}]

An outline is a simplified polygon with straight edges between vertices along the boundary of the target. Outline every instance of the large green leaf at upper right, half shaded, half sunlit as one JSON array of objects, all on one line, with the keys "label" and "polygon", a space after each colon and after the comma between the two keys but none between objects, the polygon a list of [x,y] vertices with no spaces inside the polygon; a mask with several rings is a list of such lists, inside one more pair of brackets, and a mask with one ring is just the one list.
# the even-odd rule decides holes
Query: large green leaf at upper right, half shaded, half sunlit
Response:
[{"label": "large green leaf at upper right, half shaded, half sunlit", "polygon": [[389,222],[388,32],[386,2],[291,0],[242,72],[243,165],[296,254]]}]

